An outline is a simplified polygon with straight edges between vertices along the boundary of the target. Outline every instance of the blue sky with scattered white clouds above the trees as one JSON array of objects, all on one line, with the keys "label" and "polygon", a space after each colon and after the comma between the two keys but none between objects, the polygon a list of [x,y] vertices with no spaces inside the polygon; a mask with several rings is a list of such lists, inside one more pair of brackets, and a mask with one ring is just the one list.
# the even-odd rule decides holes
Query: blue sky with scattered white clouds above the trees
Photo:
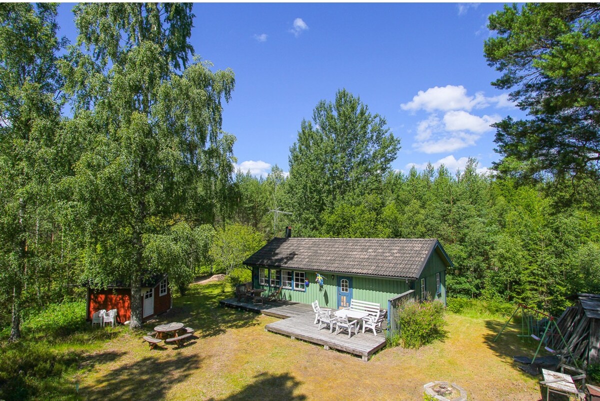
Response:
[{"label": "blue sky with scattered white clouds above the trees", "polygon": [[[59,8],[61,34],[75,41],[73,4]],[[266,175],[289,169],[302,119],[338,89],[388,121],[401,149],[392,168],[444,163],[481,168],[499,159],[490,124],[523,117],[483,55],[482,4],[194,4],[191,44],[215,69],[232,68],[236,87],[223,129],[237,137],[238,166]]]}]

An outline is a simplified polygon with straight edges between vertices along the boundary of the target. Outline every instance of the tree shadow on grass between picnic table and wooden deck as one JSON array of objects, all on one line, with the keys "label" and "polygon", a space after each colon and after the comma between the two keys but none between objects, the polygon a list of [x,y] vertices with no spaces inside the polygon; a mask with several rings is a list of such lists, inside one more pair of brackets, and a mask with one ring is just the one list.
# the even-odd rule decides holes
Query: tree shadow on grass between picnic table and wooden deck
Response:
[{"label": "tree shadow on grass between picnic table and wooden deck", "polygon": [[[221,307],[219,301],[232,296],[231,291],[223,292],[223,283],[191,285],[184,297],[173,300],[174,307],[158,316],[164,322],[178,321],[194,328],[194,335],[200,338],[214,337],[236,328],[252,327],[259,324],[256,313]],[[148,327],[155,327],[157,322]]]}]

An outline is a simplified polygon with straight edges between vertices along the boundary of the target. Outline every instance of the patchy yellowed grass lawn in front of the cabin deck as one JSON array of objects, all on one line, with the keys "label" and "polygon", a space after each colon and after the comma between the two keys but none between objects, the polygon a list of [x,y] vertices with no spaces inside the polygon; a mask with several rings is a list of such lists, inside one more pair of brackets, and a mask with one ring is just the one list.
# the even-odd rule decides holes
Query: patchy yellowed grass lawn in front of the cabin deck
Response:
[{"label": "patchy yellowed grass lawn in front of the cabin deck", "polygon": [[[538,400],[538,379],[521,372],[514,355],[533,355],[503,321],[448,313],[448,336],[418,350],[383,349],[367,363],[321,346],[268,333],[276,318],[218,306],[230,296],[220,283],[193,285],[163,321],[196,328],[181,349],[150,351],[142,332],[122,331],[91,352],[71,376],[83,399],[334,399],[352,384],[354,399],[419,400],[423,385],[455,382],[472,400]],[[344,390],[346,391],[346,390]]]}]

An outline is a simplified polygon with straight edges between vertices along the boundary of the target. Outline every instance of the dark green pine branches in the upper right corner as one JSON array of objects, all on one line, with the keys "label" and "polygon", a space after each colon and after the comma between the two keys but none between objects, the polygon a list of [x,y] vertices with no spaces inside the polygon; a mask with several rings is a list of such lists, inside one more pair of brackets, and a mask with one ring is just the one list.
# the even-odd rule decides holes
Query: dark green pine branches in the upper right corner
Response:
[{"label": "dark green pine branches in the upper right corner", "polygon": [[492,83],[528,119],[496,124],[503,159],[496,168],[517,176],[561,178],[600,166],[600,5],[505,5],[489,18],[497,35],[485,41],[490,65],[503,73]]}]

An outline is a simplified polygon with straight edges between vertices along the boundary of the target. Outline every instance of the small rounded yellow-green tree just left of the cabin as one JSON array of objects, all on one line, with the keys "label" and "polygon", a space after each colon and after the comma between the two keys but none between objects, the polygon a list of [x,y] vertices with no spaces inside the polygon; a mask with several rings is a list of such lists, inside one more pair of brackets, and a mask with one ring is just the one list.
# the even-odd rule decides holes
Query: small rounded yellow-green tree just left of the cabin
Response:
[{"label": "small rounded yellow-green tree just left of the cabin", "polygon": [[254,228],[243,224],[227,224],[219,228],[212,242],[210,255],[215,272],[232,275],[243,267],[242,262],[265,245],[265,238]]}]

